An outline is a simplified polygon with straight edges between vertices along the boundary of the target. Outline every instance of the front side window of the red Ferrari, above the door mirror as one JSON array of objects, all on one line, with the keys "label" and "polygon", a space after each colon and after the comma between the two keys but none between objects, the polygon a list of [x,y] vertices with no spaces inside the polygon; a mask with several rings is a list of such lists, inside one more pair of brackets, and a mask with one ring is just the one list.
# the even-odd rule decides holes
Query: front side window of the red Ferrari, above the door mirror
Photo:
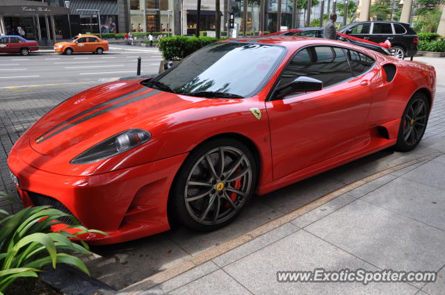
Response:
[{"label": "front side window of the red Ferrari, above the door mirror", "polygon": [[328,87],[348,80],[350,71],[345,51],[338,47],[309,47],[302,49],[286,66],[278,87],[291,83],[299,76],[307,76],[323,82]]}]

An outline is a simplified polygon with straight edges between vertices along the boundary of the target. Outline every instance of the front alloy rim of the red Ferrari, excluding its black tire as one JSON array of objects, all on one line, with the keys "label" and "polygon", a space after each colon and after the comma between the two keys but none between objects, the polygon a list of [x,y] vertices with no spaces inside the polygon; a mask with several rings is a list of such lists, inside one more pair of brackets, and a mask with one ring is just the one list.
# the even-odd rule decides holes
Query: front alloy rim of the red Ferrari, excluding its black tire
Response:
[{"label": "front alloy rim of the red Ferrari, excluding its black tire", "polygon": [[200,157],[186,181],[188,214],[199,224],[221,224],[244,205],[252,187],[248,157],[233,146],[220,146]]}]

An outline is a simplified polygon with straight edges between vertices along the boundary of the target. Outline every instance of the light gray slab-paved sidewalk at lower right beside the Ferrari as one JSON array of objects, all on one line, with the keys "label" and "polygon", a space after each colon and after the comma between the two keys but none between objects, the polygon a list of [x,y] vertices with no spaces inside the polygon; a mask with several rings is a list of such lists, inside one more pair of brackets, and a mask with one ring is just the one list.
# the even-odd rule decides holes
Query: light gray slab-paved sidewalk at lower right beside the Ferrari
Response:
[{"label": "light gray slab-paved sidewalk at lower right beside the Ferrari", "polygon": [[[445,139],[419,148],[435,152],[160,285],[145,280],[119,294],[444,294]],[[438,271],[439,277],[436,283],[277,283],[277,271],[316,268]]]}]

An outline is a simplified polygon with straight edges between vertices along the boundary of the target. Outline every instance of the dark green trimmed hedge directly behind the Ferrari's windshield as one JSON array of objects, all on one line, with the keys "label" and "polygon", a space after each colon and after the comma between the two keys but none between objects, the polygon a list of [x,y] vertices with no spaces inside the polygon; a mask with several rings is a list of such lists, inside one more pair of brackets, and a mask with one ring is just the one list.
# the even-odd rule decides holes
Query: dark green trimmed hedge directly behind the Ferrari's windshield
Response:
[{"label": "dark green trimmed hedge directly behind the Ferrari's windshield", "polygon": [[213,37],[165,37],[159,41],[159,50],[164,60],[181,60],[191,53],[207,46],[218,39]]}]

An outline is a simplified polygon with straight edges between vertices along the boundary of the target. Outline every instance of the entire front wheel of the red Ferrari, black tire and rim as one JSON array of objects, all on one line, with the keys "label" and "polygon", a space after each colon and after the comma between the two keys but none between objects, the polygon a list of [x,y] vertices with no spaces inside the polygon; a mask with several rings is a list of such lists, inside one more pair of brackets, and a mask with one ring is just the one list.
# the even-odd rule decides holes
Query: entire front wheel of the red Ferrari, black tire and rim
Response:
[{"label": "entire front wheel of the red Ferrari, black tire and rim", "polygon": [[170,218],[197,231],[226,226],[250,200],[257,185],[257,172],[252,151],[238,140],[218,138],[198,146],[188,155],[173,182]]}]

